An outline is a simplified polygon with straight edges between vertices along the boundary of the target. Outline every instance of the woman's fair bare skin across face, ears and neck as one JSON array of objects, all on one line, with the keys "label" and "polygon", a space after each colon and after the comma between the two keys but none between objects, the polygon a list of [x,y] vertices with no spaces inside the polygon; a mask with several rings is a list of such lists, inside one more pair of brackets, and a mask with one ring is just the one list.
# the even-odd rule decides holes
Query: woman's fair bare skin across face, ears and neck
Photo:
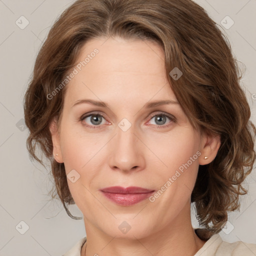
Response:
[{"label": "woman's fair bare skin across face, ears and neck", "polygon": [[[158,44],[92,39],[82,47],[77,63],[94,48],[99,53],[66,85],[59,130],[54,120],[50,123],[55,160],[64,162],[66,174],[75,169],[80,175],[74,183],[67,181],[84,217],[87,242],[81,255],[85,246],[86,255],[194,255],[205,241],[191,225],[190,195],[199,164],[214,159],[220,138],[200,135],[178,103],[143,107],[148,101],[177,101]],[[109,107],[72,106],[85,98]],[[91,112],[102,115],[101,122],[91,122],[91,116],[80,120]],[[161,114],[173,115],[175,121],[167,115],[158,120]],[[127,131],[118,126],[123,118],[131,124]],[[99,191],[115,185],[157,191],[197,151],[200,156],[154,202],[122,206]],[[123,221],[131,227],[126,233],[118,228]]]}]

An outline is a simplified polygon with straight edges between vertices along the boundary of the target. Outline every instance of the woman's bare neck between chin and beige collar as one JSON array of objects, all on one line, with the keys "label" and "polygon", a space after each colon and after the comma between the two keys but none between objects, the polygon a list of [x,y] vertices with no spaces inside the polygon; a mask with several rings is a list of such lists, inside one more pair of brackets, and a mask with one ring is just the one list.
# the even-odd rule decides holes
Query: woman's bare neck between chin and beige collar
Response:
[{"label": "woman's bare neck between chin and beige collar", "polygon": [[192,256],[203,246],[205,241],[201,240],[192,228],[190,208],[188,217],[184,218],[180,215],[163,229],[146,234],[142,238],[136,238],[136,234],[130,234],[125,238],[108,235],[84,218],[87,239],[82,247],[81,256],[102,253],[111,256],[148,256],[149,254]]}]

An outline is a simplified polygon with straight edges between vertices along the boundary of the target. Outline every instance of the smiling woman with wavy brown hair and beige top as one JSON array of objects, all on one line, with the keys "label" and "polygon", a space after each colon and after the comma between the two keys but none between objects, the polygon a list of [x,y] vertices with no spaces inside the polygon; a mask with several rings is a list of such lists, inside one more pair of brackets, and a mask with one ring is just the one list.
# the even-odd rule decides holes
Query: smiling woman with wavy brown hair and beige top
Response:
[{"label": "smiling woman with wavy brown hair and beige top", "polygon": [[[78,0],[51,28],[24,101],[74,255],[254,255],[222,241],[255,160],[230,45],[190,0]],[[202,228],[193,229],[190,205]],[[233,254],[236,253],[236,254]]]}]

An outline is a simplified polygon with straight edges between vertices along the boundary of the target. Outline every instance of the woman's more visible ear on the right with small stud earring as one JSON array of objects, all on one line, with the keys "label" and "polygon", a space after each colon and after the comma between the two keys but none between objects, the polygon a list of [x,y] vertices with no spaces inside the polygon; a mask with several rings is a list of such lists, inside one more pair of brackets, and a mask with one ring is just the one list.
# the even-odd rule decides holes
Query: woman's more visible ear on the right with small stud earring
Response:
[{"label": "woman's more visible ear on the right with small stud earring", "polygon": [[[217,155],[220,144],[220,135],[204,133],[201,139],[199,164],[204,165],[212,162]],[[207,159],[204,158],[205,156]]]}]

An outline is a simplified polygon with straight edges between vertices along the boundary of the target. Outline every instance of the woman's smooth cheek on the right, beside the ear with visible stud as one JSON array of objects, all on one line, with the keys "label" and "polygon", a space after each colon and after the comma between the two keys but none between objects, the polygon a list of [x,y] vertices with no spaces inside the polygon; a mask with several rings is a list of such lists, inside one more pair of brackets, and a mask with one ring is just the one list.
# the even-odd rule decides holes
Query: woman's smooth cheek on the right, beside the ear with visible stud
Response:
[{"label": "woman's smooth cheek on the right, beside the ear with visible stud", "polygon": [[160,190],[158,194],[163,191],[158,203],[171,201],[170,206],[166,204],[162,207],[182,207],[190,197],[197,176],[200,155],[197,133],[191,127],[173,129],[168,136],[155,135],[151,139],[150,147],[154,148],[154,153],[164,163],[161,164],[162,170],[157,172],[157,176],[154,173],[154,180]]}]

